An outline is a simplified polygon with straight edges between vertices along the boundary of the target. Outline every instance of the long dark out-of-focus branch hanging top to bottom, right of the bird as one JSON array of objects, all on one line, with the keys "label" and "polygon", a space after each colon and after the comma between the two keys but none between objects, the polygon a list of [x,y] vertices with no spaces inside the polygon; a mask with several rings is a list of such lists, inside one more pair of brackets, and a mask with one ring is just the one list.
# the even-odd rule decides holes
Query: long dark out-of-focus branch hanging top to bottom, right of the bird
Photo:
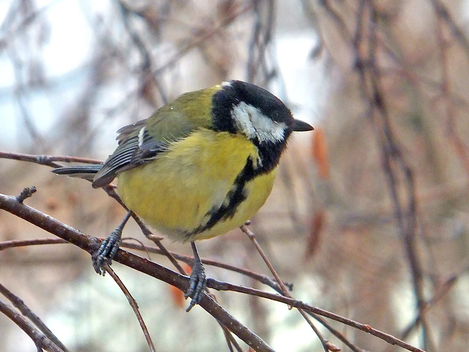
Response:
[{"label": "long dark out-of-focus branch hanging top to bottom, right of the bird", "polygon": [[[416,249],[416,196],[414,175],[403,156],[401,146],[394,137],[389,122],[386,98],[381,87],[377,59],[377,16],[377,11],[371,2],[366,0],[360,1],[357,13],[356,34],[354,36],[356,69],[360,77],[363,95],[367,100],[368,114],[371,121],[374,123],[378,137],[382,167],[394,205],[394,218],[408,260],[417,309],[419,315],[422,316],[421,323],[423,328],[424,348],[431,346],[431,351],[436,351],[431,337],[430,327],[423,312],[425,304],[424,276],[422,264],[420,263]],[[405,196],[402,197],[399,196],[400,176],[398,175],[398,170],[404,178],[404,188],[406,190]]]}]

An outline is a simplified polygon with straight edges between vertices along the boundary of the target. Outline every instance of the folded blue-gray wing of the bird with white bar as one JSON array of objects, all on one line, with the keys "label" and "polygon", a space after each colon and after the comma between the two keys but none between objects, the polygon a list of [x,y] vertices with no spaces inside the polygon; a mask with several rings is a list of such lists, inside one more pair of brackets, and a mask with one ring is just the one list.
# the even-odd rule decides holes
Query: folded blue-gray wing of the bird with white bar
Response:
[{"label": "folded blue-gray wing of the bird with white bar", "polygon": [[118,132],[119,145],[94,177],[95,188],[106,186],[118,173],[144,165],[167,151],[168,142],[152,138],[144,121],[125,126]]}]

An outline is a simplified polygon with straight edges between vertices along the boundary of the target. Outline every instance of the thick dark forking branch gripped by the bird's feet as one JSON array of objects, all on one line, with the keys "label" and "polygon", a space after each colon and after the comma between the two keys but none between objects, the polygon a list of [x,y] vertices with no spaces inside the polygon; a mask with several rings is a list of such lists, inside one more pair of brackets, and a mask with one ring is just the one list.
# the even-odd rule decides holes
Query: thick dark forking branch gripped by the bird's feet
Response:
[{"label": "thick dark forking branch gripped by the bird's feet", "polygon": [[[14,214],[45,231],[48,231],[58,237],[61,237],[66,241],[87,251],[90,254],[95,253],[100,245],[96,237],[85,235],[83,232],[75,230],[72,227],[57,221],[56,219],[47,214],[44,214],[23,203],[19,203],[15,199],[15,197],[0,194],[0,209],[6,210],[9,213]],[[116,262],[128,266],[129,268],[133,268],[144,274],[150,275],[161,281],[169,283],[170,285],[173,285],[174,287],[178,288],[183,292],[186,292],[189,287],[189,277],[177,274],[174,271],[169,270],[168,268],[165,268],[159,264],[156,264],[144,258],[138,257],[132,253],[119,250],[114,260]],[[416,348],[410,344],[407,344],[404,341],[397,339],[396,337],[383,333],[377,329],[373,329],[369,325],[361,324],[359,322],[347,319],[341,315],[325,311],[324,309],[320,309],[315,306],[310,306],[300,300],[280,296],[277,294],[272,294],[265,291],[259,291],[248,287],[234,285],[231,283],[224,283],[211,278],[207,279],[207,286],[218,291],[236,291],[281,302],[286,305],[293,306],[295,308],[303,309],[304,311],[310,313],[319,314],[326,318],[339,321],[356,329],[360,329],[371,335],[383,339],[389,344],[394,344],[403,347],[408,351],[424,352],[423,350]],[[221,324],[227,327],[227,329],[229,329],[240,339],[242,339],[242,341],[244,341],[249,346],[253,347],[257,352],[273,351],[267,344],[265,344],[265,342],[260,337],[258,337],[256,334],[254,334],[252,331],[242,325],[232,315],[227,313],[227,311],[225,311],[221,306],[219,306],[212,298],[209,298],[207,295],[204,295],[199,303],[199,306],[201,306],[217,321],[219,321]]]}]

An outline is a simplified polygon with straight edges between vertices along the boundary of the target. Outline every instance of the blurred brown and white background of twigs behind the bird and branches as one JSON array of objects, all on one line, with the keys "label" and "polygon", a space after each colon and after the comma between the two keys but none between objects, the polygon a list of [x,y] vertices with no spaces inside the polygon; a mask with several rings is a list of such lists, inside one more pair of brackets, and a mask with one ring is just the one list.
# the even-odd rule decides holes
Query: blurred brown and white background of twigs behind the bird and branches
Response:
[{"label": "blurred brown and white background of twigs behind the bird and branches", "polygon": [[[261,85],[316,128],[292,138],[251,225],[292,294],[428,352],[465,351],[468,21],[465,0],[0,0],[0,150],[104,160],[118,128],[183,92],[233,78]],[[1,193],[31,185],[29,205],[92,236],[106,237],[124,215],[88,182],[0,159]],[[0,241],[44,237],[52,236],[0,212]],[[124,237],[151,245],[133,222]],[[189,245],[163,243],[190,254]],[[198,248],[269,274],[239,230]],[[151,260],[172,268],[157,254]],[[148,350],[120,289],[75,246],[5,249],[0,266],[0,282],[71,351]],[[113,269],[158,351],[228,350],[203,309],[187,314],[188,302],[165,283]],[[297,311],[215,293],[275,351],[323,351]],[[360,348],[402,350],[332,325]],[[0,350],[36,348],[0,315]]]}]

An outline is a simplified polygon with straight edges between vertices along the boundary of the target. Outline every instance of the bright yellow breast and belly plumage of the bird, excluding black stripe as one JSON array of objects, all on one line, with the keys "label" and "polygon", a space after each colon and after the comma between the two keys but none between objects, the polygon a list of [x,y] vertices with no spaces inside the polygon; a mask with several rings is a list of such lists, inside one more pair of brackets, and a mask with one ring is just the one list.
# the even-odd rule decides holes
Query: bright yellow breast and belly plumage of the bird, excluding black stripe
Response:
[{"label": "bright yellow breast and belly plumage of the bird, excluding black stripe", "polygon": [[272,190],[276,169],[244,183],[243,201],[204,229],[214,210],[227,209],[248,158],[257,167],[257,147],[248,138],[201,129],[151,163],[122,172],[117,191],[130,210],[174,240],[218,236],[249,220]]}]

